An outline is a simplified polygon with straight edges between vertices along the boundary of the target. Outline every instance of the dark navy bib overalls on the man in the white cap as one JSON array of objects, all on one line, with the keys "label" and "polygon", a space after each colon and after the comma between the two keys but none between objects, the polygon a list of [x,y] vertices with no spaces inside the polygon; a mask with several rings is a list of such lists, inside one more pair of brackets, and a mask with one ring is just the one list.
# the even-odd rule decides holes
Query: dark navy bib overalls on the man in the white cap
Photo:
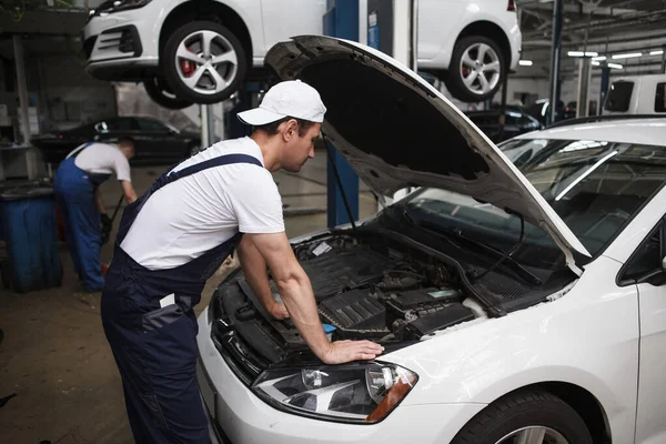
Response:
[{"label": "dark navy bib overalls on the man in the white cap", "polygon": [[[169,183],[199,171],[259,160],[228,154],[164,174],[123,212],[113,261],[102,292],[102,323],[124,389],[137,443],[209,443],[208,420],[196,384],[198,325],[192,309],[205,281],[241,239],[232,239],[174,269],[148,270],[120,246],[141,208]],[[175,294],[175,305],[160,300]]]}]

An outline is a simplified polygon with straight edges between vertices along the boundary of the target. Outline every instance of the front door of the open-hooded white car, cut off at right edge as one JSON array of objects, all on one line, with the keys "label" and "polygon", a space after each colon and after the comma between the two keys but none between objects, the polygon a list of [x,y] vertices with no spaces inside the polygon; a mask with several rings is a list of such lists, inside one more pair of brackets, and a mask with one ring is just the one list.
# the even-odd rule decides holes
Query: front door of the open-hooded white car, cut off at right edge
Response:
[{"label": "front door of the open-hooded white car, cut off at right edge", "polygon": [[620,284],[638,290],[640,354],[636,444],[666,442],[666,223],[662,220],[627,261]]}]

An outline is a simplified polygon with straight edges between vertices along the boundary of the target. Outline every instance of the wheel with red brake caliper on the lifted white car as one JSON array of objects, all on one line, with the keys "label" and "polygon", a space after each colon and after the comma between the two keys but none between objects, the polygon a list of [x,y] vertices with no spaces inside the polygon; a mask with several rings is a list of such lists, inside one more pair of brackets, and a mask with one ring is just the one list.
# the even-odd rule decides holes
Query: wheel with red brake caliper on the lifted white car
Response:
[{"label": "wheel with red brake caliper on the lifted white car", "polygon": [[167,41],[160,62],[175,94],[193,103],[229,99],[248,71],[241,41],[211,21],[195,21],[176,29]]}]

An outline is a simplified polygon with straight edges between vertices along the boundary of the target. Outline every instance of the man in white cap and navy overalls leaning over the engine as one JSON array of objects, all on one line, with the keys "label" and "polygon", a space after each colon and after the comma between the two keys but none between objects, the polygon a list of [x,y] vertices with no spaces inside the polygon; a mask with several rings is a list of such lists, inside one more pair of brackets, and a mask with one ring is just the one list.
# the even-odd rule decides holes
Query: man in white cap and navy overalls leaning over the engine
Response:
[{"label": "man in white cap and navy overalls leaning over the engine", "polygon": [[[209,442],[192,309],[236,246],[263,306],[278,320],[291,316],[323,362],[371,360],[383,351],[369,341],[327,341],[284,232],[271,172],[297,172],[314,157],[325,111],[312,87],[279,83],[259,108],[238,114],[253,127],[251,137],[213,144],[125,208],[101,305],[137,443]],[[273,299],[266,265],[284,304]]]}]

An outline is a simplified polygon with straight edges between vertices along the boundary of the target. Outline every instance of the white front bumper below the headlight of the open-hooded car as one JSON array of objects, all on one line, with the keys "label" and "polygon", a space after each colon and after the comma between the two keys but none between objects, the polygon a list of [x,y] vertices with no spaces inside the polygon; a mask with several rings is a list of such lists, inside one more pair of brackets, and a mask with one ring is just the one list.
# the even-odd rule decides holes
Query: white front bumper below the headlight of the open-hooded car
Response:
[{"label": "white front bumper below the headlight of the open-hooded car", "polygon": [[[210,336],[208,310],[199,317],[198,379],[212,420],[211,438],[222,443],[333,444],[450,442],[483,404],[400,406],[383,422],[350,425],[278,411],[255,396],[231,371]],[[214,442],[214,441],[213,441]]]}]

